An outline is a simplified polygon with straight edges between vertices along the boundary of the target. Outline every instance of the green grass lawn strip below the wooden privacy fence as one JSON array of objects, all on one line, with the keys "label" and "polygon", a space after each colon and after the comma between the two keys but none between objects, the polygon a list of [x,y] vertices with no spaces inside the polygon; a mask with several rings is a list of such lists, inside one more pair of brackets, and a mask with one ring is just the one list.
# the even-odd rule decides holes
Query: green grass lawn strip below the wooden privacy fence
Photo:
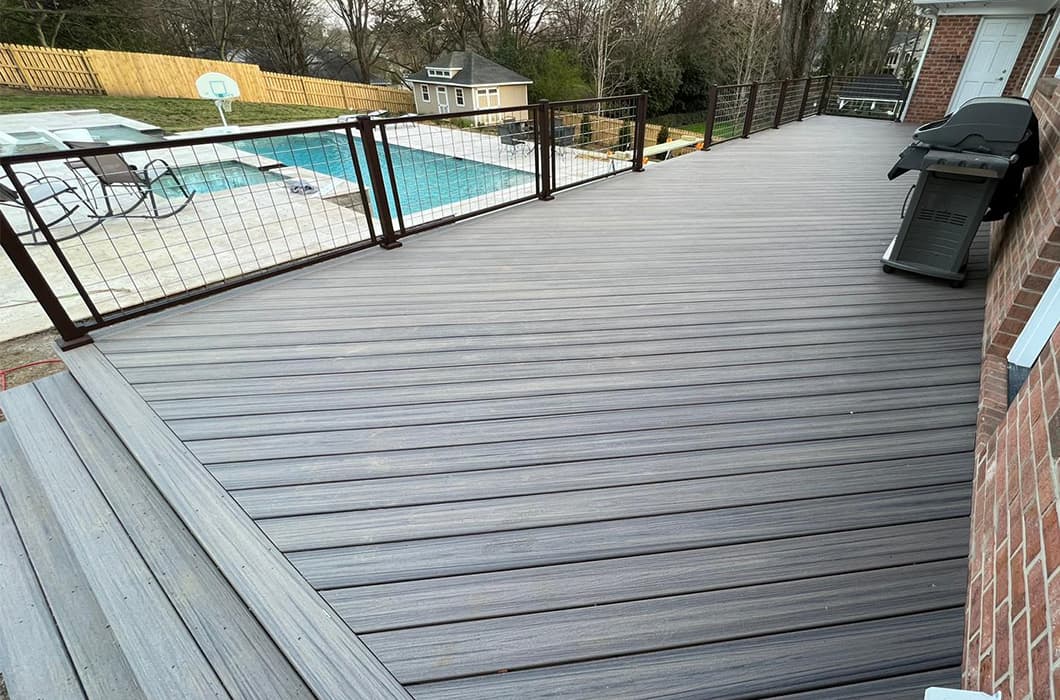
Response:
[{"label": "green grass lawn strip below the wooden privacy fence", "polygon": [[[173,98],[110,98],[86,94],[3,94],[0,95],[0,113],[26,111],[57,111],[63,109],[99,109],[129,119],[154,124],[166,132],[189,132],[220,123],[217,108],[206,100],[177,100]],[[233,124],[271,124],[300,119],[334,119],[343,110],[332,107],[301,105],[271,105],[259,102],[235,101]]]}]

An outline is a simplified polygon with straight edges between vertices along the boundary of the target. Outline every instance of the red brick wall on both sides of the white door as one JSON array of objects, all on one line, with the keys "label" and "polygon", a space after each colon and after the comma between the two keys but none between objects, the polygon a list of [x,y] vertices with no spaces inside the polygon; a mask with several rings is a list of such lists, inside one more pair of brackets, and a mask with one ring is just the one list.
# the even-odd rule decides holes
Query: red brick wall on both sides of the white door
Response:
[{"label": "red brick wall on both sides of the white door", "polygon": [[[1004,94],[1019,95],[1023,91],[1027,72],[1034,65],[1044,38],[1042,29],[1046,15],[1036,15],[1020,49]],[[935,33],[924,55],[924,63],[917,78],[916,90],[909,98],[905,121],[915,124],[930,122],[946,115],[957,87],[960,70],[979,27],[978,15],[942,15],[935,23]]]}]

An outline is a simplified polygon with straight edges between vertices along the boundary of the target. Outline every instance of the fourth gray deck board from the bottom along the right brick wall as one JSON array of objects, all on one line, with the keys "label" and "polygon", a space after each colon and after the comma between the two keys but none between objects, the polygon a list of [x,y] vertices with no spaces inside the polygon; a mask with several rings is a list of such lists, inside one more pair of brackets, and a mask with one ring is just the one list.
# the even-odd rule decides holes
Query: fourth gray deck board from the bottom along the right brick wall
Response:
[{"label": "fourth gray deck board from the bottom along the right brick wall", "polygon": [[[382,632],[965,557],[967,519],[681,549],[620,559],[332,589],[356,629]],[[617,570],[620,576],[614,575]]]}]

